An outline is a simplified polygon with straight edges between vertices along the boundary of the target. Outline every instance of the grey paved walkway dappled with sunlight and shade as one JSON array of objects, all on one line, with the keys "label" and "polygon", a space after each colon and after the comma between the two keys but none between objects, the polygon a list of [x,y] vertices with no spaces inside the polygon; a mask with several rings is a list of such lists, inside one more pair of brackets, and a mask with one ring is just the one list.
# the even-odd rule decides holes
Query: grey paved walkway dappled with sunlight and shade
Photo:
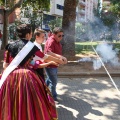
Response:
[{"label": "grey paved walkway dappled with sunlight and shade", "polygon": [[[120,79],[113,79],[120,90]],[[58,81],[59,120],[120,120],[120,96],[108,77]]]}]

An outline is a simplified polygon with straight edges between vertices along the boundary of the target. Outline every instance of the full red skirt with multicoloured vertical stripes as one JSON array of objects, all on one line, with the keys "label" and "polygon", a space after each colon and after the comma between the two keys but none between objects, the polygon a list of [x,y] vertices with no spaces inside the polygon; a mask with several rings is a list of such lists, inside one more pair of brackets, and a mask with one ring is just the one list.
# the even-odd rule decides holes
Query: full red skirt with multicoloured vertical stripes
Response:
[{"label": "full red skirt with multicoloured vertical stripes", "polygon": [[54,100],[34,70],[19,67],[0,89],[0,120],[58,120]]}]

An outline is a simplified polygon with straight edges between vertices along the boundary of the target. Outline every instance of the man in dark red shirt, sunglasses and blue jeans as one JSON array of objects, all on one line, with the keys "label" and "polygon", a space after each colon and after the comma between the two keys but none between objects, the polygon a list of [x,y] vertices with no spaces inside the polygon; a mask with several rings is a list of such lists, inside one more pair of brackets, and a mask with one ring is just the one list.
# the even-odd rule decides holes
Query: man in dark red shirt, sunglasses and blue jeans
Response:
[{"label": "man in dark red shirt, sunglasses and blue jeans", "polygon": [[[54,28],[53,34],[47,39],[45,43],[44,53],[57,57],[63,60],[64,64],[66,64],[67,59],[62,56],[62,45],[60,43],[63,37],[63,30],[59,27]],[[58,66],[50,65],[47,66],[45,70],[47,74],[46,84],[49,86],[54,100],[58,101],[56,92]]]}]

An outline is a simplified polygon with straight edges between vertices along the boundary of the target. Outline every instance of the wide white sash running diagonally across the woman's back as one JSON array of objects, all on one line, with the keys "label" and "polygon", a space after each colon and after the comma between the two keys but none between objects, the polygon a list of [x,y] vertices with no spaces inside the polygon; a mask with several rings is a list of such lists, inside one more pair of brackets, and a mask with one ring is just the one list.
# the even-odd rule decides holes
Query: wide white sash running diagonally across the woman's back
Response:
[{"label": "wide white sash running diagonally across the woman's back", "polygon": [[4,70],[1,80],[0,80],[0,88],[4,83],[7,76],[21,63],[21,61],[27,56],[27,54],[32,50],[34,44],[29,41],[21,51],[16,55],[16,57],[12,60],[9,66]]}]

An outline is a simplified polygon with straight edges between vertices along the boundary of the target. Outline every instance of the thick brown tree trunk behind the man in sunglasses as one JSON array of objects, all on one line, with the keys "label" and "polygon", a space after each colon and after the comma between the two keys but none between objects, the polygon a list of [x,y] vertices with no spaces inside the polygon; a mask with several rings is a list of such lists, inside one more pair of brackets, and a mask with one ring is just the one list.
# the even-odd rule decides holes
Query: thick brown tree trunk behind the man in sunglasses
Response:
[{"label": "thick brown tree trunk behind the man in sunglasses", "polygon": [[62,40],[63,55],[67,58],[75,56],[75,20],[76,20],[76,0],[65,0],[62,28],[65,34]]}]

